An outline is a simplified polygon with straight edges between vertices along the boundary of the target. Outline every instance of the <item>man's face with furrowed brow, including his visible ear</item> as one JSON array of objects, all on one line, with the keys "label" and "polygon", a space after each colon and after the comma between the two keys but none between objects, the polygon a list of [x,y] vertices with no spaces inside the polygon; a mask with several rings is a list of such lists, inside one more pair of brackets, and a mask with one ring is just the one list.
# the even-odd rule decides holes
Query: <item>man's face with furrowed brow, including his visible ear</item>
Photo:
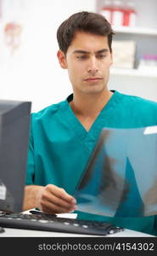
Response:
[{"label": "man's face with furrowed brow, including his visible ear", "polygon": [[106,90],[112,55],[108,38],[86,32],[76,32],[66,55],[59,50],[59,63],[67,68],[74,92],[86,94]]}]

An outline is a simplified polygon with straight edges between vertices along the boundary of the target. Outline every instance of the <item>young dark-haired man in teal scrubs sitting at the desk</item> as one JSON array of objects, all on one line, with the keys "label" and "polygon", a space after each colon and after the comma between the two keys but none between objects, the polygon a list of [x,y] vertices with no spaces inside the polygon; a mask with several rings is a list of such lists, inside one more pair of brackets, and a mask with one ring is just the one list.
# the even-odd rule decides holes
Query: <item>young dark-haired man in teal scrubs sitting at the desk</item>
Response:
[{"label": "young dark-haired man in teal scrubs sitting at the desk", "polygon": [[[25,210],[76,210],[72,195],[102,128],[157,125],[156,102],[109,91],[112,36],[109,22],[94,13],[74,14],[59,26],[57,55],[68,70],[73,95],[32,114]],[[78,218],[155,234],[155,216],[105,218],[78,212]]]}]

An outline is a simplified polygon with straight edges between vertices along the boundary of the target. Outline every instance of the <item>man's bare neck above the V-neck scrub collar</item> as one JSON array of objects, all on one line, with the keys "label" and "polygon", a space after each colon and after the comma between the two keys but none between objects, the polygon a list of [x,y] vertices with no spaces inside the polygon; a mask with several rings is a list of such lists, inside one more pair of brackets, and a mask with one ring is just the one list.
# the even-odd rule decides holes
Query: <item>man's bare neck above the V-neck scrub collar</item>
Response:
[{"label": "man's bare neck above the V-neck scrub collar", "polygon": [[76,116],[95,119],[104,106],[109,102],[113,92],[105,90],[97,95],[80,95],[74,92],[73,101],[70,107]]}]

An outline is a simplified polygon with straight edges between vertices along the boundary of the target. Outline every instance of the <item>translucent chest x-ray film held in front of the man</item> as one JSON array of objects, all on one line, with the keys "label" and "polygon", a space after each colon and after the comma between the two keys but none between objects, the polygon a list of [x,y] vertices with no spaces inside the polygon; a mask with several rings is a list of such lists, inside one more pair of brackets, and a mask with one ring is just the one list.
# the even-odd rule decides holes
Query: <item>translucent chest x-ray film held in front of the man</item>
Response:
[{"label": "translucent chest x-ray film held in front of the man", "polygon": [[157,214],[157,126],[104,128],[75,196],[81,212],[109,217]]}]

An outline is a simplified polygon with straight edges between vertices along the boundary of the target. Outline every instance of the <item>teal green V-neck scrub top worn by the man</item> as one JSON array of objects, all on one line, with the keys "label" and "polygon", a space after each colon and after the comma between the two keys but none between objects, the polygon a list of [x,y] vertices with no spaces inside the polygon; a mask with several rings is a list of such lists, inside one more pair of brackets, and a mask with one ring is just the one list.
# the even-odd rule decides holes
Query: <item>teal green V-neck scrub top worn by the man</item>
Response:
[{"label": "teal green V-neck scrub top worn by the man", "polygon": [[[90,131],[86,131],[70,108],[70,95],[31,114],[26,184],[53,183],[73,195],[103,127],[141,128],[157,125],[157,102],[114,91]],[[77,212],[77,211],[76,211]],[[109,221],[130,230],[157,236],[157,218],[109,218],[77,212],[78,218]]]}]

